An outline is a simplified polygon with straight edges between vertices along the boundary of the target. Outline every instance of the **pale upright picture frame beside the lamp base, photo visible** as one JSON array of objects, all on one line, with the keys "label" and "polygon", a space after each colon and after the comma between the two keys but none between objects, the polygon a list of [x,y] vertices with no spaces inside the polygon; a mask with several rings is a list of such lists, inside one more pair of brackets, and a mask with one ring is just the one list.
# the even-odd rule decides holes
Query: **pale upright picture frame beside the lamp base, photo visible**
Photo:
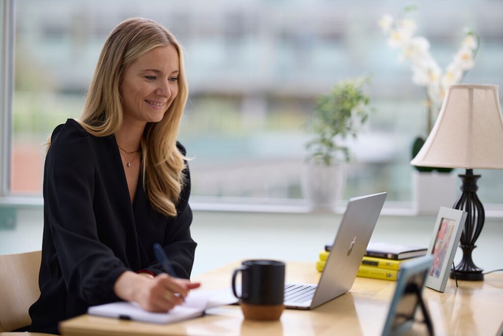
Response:
[{"label": "pale upright picture frame beside the lamp base, photo visible", "polygon": [[466,211],[440,207],[427,252],[432,255],[433,264],[426,279],[426,287],[445,292],[466,215]]}]

